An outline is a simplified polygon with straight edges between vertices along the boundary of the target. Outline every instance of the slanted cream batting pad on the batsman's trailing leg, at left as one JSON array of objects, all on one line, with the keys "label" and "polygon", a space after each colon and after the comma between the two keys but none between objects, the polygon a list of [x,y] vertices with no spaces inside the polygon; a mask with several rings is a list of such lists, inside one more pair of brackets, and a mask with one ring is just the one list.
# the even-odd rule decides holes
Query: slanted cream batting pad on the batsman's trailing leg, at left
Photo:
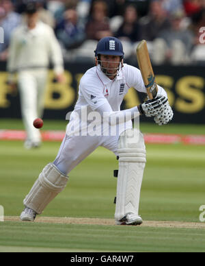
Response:
[{"label": "slanted cream batting pad on the batsman's trailing leg, at left", "polygon": [[49,202],[66,187],[67,182],[68,176],[64,176],[53,163],[49,163],[33,184],[23,204],[40,215]]}]

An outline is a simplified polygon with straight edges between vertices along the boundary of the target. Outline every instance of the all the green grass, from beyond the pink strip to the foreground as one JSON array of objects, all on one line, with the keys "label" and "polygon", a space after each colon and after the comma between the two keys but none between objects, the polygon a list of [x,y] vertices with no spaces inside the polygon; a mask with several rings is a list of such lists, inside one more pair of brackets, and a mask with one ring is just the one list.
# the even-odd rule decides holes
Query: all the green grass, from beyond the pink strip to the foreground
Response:
[{"label": "all the green grass, from beyond the pink strip to the foreground", "polygon": [[[0,121],[0,128],[22,129],[20,121]],[[45,121],[44,129],[64,130],[64,121]],[[143,130],[143,129],[144,130]],[[163,127],[158,127],[160,130]],[[152,125],[141,131],[153,132]],[[174,133],[202,134],[203,127],[172,125]],[[22,141],[0,141],[0,205],[5,215],[18,216],[23,199],[44,165],[52,162],[60,143],[44,142],[25,150]],[[205,204],[205,146],[146,145],[147,164],[139,213],[144,220],[199,222]],[[113,219],[118,169],[115,156],[100,147],[70,172],[68,186],[44,210],[43,216]],[[135,226],[0,223],[1,251],[204,252],[204,230]]]}]

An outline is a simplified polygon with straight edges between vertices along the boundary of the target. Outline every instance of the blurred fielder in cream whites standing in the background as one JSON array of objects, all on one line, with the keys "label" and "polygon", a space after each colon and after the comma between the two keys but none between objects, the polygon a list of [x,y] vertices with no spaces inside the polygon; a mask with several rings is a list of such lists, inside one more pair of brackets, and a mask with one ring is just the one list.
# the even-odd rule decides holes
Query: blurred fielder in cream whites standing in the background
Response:
[{"label": "blurred fielder in cream whites standing in the background", "polygon": [[33,127],[33,120],[43,114],[49,59],[53,61],[58,82],[64,79],[64,65],[53,29],[38,21],[36,4],[29,2],[25,13],[25,23],[12,34],[8,84],[15,89],[14,73],[17,72],[21,113],[27,131],[25,147],[29,149],[41,143],[40,131]]}]

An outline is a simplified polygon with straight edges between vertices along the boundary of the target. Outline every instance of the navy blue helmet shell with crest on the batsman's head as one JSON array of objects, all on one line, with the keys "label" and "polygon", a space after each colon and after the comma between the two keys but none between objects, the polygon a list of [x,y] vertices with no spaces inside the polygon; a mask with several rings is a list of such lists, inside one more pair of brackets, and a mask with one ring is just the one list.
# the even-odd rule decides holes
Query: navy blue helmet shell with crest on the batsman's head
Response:
[{"label": "navy blue helmet shell with crest on the batsman's head", "polygon": [[122,43],[115,37],[105,37],[100,39],[94,53],[95,56],[98,56],[98,54],[121,56],[122,58],[124,56]]}]

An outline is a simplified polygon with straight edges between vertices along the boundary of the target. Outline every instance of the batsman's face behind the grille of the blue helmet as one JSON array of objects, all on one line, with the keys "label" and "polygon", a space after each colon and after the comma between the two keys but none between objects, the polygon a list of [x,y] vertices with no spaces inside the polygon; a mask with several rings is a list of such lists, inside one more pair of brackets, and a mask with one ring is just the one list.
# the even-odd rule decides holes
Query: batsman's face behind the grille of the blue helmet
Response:
[{"label": "batsman's face behind the grille of the blue helmet", "polygon": [[117,74],[120,56],[100,55],[100,64],[102,71],[112,80]]}]

